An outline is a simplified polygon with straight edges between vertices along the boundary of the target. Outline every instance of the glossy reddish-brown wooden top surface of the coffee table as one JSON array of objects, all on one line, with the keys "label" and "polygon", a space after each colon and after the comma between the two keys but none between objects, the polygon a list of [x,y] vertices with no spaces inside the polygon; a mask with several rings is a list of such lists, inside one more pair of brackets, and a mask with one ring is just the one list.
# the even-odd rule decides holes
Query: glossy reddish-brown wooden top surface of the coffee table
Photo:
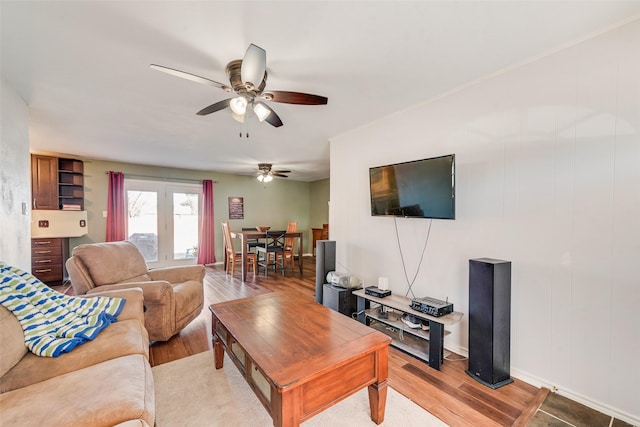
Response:
[{"label": "glossy reddish-brown wooden top surface of the coffee table", "polygon": [[387,335],[295,294],[274,292],[209,309],[281,389],[391,342]]}]

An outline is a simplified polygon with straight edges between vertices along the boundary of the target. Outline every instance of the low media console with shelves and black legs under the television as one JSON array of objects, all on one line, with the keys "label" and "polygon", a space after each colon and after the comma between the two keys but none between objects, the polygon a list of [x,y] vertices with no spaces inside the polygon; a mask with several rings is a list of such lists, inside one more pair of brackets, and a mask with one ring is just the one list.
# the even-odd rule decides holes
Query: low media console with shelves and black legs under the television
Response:
[{"label": "low media console with shelves and black legs under the television", "polygon": [[[358,297],[358,321],[391,337],[391,345],[420,360],[434,369],[440,370],[444,359],[444,327],[453,325],[462,319],[463,314],[452,312],[434,317],[411,308],[411,300],[400,295],[378,298],[368,295],[363,289],[353,291]],[[371,304],[378,306],[371,308]],[[380,307],[383,314],[380,315]],[[390,310],[389,310],[390,309]],[[428,323],[428,330],[414,329],[402,322],[402,314],[409,313]]]}]

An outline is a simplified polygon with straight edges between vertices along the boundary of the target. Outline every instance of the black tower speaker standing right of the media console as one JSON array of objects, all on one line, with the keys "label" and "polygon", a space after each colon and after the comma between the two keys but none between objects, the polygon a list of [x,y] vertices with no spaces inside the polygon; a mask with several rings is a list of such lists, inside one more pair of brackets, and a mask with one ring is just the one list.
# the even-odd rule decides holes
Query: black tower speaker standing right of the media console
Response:
[{"label": "black tower speaker standing right of the media console", "polygon": [[511,262],[469,260],[469,366],[467,373],[496,389],[510,377]]}]

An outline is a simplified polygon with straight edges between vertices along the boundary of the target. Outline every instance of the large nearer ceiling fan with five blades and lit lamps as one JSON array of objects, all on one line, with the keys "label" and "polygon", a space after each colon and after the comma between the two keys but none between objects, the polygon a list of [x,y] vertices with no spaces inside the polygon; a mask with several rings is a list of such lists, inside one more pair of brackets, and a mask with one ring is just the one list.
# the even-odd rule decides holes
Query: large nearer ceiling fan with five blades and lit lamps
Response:
[{"label": "large nearer ceiling fan with five blades and lit lamps", "polygon": [[154,70],[163,71],[173,76],[182,77],[198,83],[215,86],[225,92],[234,92],[237,96],[218,101],[203,108],[196,114],[205,116],[229,107],[231,116],[244,122],[248,111],[253,111],[258,120],[266,121],[274,127],[282,126],[282,120],[264,101],[283,102],[299,105],[324,105],[327,98],[309,93],[289,92],[281,90],[265,91],[267,85],[267,53],[261,47],[250,44],[243,59],[236,59],[227,64],[229,85],[225,85],[195,74],[151,64]]}]

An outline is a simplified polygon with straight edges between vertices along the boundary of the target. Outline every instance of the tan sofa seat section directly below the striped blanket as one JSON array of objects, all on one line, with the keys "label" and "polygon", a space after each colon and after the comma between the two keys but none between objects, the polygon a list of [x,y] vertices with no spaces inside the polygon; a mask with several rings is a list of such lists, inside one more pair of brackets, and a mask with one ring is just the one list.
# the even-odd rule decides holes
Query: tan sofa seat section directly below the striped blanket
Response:
[{"label": "tan sofa seat section directly below the striped blanket", "polygon": [[78,346],[59,357],[25,354],[0,378],[0,393],[129,354],[140,354],[146,359],[149,358],[149,336],[138,320],[113,323],[90,343]]}]

